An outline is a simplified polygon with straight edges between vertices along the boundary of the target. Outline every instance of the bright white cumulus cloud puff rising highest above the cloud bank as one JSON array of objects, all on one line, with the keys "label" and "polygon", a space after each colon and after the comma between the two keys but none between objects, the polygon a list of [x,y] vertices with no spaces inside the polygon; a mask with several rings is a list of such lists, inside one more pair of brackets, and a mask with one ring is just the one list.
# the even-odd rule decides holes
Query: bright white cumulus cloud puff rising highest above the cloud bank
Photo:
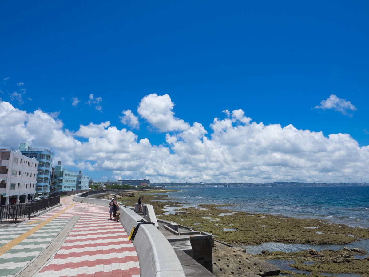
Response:
[{"label": "bright white cumulus cloud puff rising highest above the cloud bank", "polygon": [[153,93],[142,98],[137,112],[161,132],[189,129],[190,124],[174,117],[173,107],[174,103],[168,94]]}]

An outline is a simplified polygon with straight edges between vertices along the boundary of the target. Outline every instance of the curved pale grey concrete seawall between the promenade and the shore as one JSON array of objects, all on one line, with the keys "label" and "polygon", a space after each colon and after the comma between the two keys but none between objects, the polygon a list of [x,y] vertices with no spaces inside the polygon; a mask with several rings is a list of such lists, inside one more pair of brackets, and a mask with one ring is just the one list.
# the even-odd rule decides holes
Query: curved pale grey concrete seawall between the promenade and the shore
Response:
[{"label": "curved pale grey concrete seawall between the promenade and the shore", "polygon": [[[81,194],[74,196],[73,201],[109,206],[110,201],[107,199],[85,198],[81,197]],[[119,211],[121,212],[119,221],[130,235],[132,228],[141,221],[142,217],[124,206],[120,206]],[[141,225],[133,245],[136,248],[142,277],[185,277],[172,246],[154,225]]]}]

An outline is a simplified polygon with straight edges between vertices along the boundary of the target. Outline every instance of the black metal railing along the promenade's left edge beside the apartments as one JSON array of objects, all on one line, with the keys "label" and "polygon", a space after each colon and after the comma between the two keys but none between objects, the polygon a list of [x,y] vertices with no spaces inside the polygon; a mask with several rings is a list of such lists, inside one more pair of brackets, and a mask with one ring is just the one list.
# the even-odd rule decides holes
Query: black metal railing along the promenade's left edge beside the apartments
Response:
[{"label": "black metal railing along the promenade's left edge beside the apartments", "polygon": [[31,217],[31,214],[57,205],[60,196],[45,198],[27,204],[10,204],[0,206],[0,222],[17,222],[18,219]]}]

